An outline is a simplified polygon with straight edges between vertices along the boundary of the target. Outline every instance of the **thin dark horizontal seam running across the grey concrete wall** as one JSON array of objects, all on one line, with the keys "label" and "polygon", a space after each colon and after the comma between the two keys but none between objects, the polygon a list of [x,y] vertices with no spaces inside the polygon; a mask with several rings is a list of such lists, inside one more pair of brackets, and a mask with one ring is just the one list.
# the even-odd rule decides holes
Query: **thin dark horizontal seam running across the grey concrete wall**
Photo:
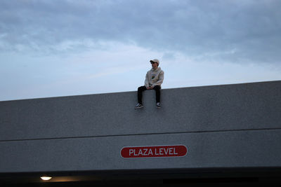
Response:
[{"label": "thin dark horizontal seam running across the grey concrete wall", "polygon": [[188,131],[188,132],[159,132],[159,133],[141,133],[141,134],[111,134],[111,135],[97,135],[97,136],[82,136],[82,137],[53,137],[53,138],[34,138],[34,139],[7,139],[0,140],[1,142],[9,141],[37,141],[37,140],[52,140],[52,139],[85,139],[85,138],[100,138],[100,137],[131,137],[143,135],[164,135],[164,134],[195,134],[195,133],[216,133],[216,132],[249,132],[249,131],[268,131],[281,130],[281,128],[263,128],[263,129],[240,129],[240,130],[205,130],[205,131]]}]

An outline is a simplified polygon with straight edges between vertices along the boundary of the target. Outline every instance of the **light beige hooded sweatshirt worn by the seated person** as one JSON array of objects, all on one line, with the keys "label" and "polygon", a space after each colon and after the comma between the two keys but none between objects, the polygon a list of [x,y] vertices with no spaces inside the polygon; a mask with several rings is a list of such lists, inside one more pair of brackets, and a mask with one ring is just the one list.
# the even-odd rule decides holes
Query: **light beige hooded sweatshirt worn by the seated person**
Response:
[{"label": "light beige hooded sweatshirt worn by the seated person", "polygon": [[157,69],[150,69],[145,76],[145,87],[148,88],[149,86],[155,86],[163,83],[164,80],[164,71],[161,70],[160,67]]}]

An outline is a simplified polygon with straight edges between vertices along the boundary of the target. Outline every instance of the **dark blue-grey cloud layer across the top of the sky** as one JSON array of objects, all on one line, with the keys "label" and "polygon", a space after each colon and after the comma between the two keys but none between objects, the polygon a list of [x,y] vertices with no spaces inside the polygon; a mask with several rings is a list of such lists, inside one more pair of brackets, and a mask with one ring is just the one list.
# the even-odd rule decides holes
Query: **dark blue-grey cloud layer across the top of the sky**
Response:
[{"label": "dark blue-grey cloud layer across the top of the sky", "polygon": [[118,41],[170,56],[276,63],[280,9],[278,0],[0,1],[0,50],[54,52],[65,41]]}]

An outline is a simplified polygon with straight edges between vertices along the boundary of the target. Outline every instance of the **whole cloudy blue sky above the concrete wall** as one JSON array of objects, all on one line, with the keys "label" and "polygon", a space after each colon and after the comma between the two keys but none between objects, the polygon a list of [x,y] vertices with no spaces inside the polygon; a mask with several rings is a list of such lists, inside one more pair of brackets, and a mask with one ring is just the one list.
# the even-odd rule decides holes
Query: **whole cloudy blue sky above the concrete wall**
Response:
[{"label": "whole cloudy blue sky above the concrete wall", "polygon": [[1,0],[0,101],[281,80],[280,0]]}]

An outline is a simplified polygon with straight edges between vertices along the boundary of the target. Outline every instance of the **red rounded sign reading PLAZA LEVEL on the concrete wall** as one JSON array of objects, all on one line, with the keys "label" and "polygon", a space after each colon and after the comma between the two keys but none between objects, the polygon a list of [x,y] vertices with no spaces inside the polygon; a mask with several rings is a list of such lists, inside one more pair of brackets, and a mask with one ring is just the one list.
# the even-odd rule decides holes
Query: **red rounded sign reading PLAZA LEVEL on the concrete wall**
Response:
[{"label": "red rounded sign reading PLAZA LEVEL on the concrete wall", "polygon": [[188,148],[183,145],[124,147],[121,150],[123,158],[178,157],[186,153]]}]

